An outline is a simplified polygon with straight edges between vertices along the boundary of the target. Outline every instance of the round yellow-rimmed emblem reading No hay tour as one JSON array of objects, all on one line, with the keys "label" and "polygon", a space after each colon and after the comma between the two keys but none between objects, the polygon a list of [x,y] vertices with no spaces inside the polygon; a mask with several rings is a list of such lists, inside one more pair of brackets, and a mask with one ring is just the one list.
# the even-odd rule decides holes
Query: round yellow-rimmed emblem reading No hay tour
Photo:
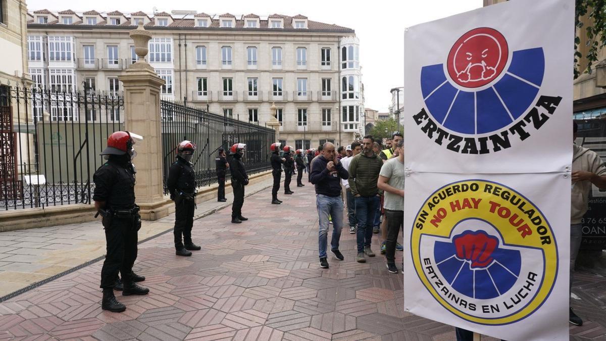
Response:
[{"label": "round yellow-rimmed emblem reading No hay tour", "polygon": [[487,180],[448,184],[425,200],[410,251],[419,279],[448,311],[485,325],[532,314],[551,293],[558,248],[522,194]]}]

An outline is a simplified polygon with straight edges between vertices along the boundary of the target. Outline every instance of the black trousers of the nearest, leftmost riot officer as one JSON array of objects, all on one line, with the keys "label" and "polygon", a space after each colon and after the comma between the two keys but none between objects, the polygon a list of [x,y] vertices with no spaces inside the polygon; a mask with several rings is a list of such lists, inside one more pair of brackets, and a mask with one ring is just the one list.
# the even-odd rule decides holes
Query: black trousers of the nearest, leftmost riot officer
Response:
[{"label": "black trousers of the nearest, leftmost riot officer", "polygon": [[101,269],[101,288],[113,288],[118,271],[122,281],[130,284],[133,264],[137,258],[137,231],[130,217],[114,217],[112,225],[105,229],[107,243],[105,261]]}]

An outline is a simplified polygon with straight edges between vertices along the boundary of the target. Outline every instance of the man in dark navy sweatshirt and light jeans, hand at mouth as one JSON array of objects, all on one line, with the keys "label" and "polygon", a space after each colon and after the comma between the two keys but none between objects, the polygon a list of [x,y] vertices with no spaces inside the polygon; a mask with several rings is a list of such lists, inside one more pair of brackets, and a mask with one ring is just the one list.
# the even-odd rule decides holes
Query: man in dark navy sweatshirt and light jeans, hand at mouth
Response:
[{"label": "man in dark navy sweatshirt and light jeans, hand at mouth", "polygon": [[322,146],[321,155],[311,164],[310,180],[316,189],[316,208],[319,216],[318,250],[320,267],[328,268],[326,260],[328,216],[333,221],[333,237],[330,240],[330,250],[338,260],[344,257],[339,251],[339,239],[343,227],[343,201],[341,200],[341,179],[347,179],[347,169],[336,158],[335,145],[327,142]]}]

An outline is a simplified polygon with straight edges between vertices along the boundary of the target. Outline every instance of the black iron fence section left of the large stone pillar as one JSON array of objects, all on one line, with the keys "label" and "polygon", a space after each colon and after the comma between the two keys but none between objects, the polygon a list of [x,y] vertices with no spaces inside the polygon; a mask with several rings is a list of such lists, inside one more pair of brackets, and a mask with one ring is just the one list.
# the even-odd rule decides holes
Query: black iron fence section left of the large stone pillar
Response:
[{"label": "black iron fence section left of the large stone pillar", "polygon": [[0,208],[91,203],[99,152],[123,116],[119,96],[0,86]]}]

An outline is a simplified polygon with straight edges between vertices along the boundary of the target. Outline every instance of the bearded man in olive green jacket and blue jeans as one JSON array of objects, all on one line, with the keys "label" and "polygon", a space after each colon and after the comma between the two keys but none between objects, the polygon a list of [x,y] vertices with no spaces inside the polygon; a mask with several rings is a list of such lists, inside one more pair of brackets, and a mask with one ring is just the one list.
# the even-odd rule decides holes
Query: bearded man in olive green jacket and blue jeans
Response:
[{"label": "bearded man in olive green jacket and blue jeans", "polygon": [[358,242],[359,263],[365,263],[364,255],[375,257],[370,249],[373,237],[373,220],[379,207],[379,189],[377,181],[383,161],[373,152],[374,139],[366,135],[362,139],[362,152],[351,159],[349,164],[349,187],[356,203],[356,218],[358,219],[358,230],[356,240]]}]

